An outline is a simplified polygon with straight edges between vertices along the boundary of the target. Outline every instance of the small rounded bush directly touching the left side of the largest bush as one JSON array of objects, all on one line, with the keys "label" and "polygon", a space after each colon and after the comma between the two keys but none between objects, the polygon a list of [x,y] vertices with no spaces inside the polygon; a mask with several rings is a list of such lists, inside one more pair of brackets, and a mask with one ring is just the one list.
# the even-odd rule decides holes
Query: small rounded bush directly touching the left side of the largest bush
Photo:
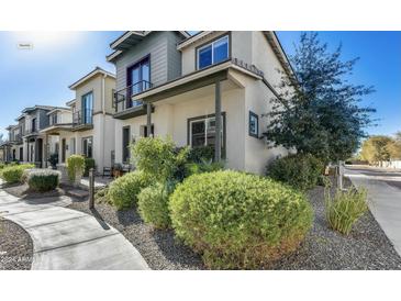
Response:
[{"label": "small rounded bush directly touching the left side of the largest bush", "polygon": [[156,228],[169,227],[168,196],[169,189],[163,183],[144,188],[137,197],[141,218]]}]

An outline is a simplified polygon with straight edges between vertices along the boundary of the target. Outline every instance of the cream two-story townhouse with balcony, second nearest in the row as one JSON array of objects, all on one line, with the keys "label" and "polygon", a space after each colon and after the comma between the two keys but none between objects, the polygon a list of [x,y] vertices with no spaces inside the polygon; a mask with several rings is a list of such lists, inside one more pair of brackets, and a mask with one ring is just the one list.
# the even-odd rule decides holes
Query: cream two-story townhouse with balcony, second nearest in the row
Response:
[{"label": "cream two-story townhouse with balcony, second nearest in the row", "polygon": [[66,103],[68,110],[49,112],[51,122],[55,122],[42,133],[47,137],[58,136],[59,164],[65,164],[73,154],[81,154],[94,159],[98,171],[111,167],[115,76],[96,67],[69,88],[75,92],[75,99]]}]

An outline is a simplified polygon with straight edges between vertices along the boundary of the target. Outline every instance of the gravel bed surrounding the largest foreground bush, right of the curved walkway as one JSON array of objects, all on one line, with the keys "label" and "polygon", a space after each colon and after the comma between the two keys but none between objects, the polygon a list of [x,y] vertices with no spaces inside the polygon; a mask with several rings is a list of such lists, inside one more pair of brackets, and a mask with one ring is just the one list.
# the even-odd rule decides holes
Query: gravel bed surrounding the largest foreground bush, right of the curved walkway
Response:
[{"label": "gravel bed surrounding the largest foreground bush, right of the curved walkway", "polygon": [[[346,183],[349,186],[349,180]],[[316,187],[308,196],[314,209],[313,227],[299,249],[271,269],[401,269],[401,258],[370,212],[357,222],[349,236],[344,236],[327,227],[324,188]],[[115,211],[102,202],[90,211],[88,201],[74,202],[69,208],[93,214],[118,228],[152,269],[204,269],[201,257],[175,238],[174,231],[153,230],[135,209]]]}]

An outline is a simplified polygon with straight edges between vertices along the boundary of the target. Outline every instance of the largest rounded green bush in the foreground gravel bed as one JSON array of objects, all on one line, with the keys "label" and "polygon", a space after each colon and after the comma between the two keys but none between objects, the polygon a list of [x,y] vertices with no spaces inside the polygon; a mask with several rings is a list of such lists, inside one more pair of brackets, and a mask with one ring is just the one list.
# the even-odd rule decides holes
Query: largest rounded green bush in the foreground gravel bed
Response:
[{"label": "largest rounded green bush in the foreground gravel bed", "polygon": [[271,179],[224,170],[193,175],[170,196],[178,237],[210,268],[260,268],[293,252],[312,224],[303,193]]}]

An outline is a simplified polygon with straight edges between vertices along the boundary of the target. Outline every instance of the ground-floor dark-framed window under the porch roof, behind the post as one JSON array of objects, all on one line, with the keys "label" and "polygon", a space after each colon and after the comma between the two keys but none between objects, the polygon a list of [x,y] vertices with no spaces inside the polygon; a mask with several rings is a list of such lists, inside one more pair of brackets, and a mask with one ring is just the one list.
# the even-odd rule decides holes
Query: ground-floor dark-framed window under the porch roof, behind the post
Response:
[{"label": "ground-floor dark-framed window under the porch roof, behind the post", "polygon": [[[222,116],[221,141],[222,149],[225,149],[225,114]],[[215,116],[201,116],[188,120],[189,144],[191,147],[215,145]],[[224,152],[222,152],[224,153]]]}]

